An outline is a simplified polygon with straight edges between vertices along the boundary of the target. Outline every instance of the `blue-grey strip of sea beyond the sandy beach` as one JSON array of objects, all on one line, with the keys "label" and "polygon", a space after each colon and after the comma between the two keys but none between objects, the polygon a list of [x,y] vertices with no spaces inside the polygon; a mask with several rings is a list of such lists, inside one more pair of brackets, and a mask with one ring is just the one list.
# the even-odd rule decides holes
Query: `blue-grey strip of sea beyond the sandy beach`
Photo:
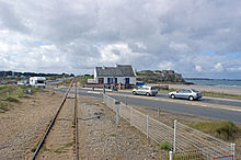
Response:
[{"label": "blue-grey strip of sea beyond the sandy beach", "polygon": [[216,85],[228,88],[241,88],[241,79],[184,79],[186,82],[192,82],[195,85]]}]

